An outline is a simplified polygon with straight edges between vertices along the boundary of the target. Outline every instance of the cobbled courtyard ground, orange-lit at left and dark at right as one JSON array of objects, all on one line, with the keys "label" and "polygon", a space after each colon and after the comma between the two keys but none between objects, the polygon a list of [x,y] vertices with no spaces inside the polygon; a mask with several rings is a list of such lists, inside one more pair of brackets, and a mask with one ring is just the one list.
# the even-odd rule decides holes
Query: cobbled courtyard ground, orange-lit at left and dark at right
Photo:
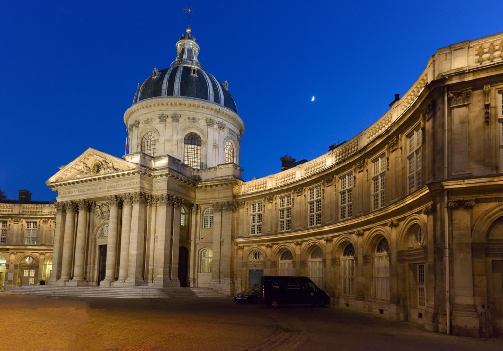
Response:
[{"label": "cobbled courtyard ground, orange-lit at left and dark at right", "polygon": [[424,331],[336,307],[270,309],[229,298],[96,299],[0,293],[0,349],[501,350],[502,339]]}]

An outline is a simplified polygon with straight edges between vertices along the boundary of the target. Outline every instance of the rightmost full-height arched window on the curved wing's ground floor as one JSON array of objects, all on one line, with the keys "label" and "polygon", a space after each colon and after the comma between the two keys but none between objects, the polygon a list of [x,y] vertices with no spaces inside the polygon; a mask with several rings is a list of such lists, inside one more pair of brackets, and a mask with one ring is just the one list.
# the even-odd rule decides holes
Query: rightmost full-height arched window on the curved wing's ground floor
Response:
[{"label": "rightmost full-height arched window on the curved wing's ground floor", "polygon": [[375,253],[372,255],[372,297],[375,299],[389,300],[389,258],[388,241],[386,238],[379,240]]}]

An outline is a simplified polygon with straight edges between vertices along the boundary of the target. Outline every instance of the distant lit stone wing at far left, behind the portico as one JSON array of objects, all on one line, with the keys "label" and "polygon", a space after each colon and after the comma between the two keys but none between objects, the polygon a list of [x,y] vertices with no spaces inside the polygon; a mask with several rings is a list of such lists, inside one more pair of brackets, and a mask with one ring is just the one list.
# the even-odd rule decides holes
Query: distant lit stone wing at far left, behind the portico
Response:
[{"label": "distant lit stone wing at far left, behind the portico", "polygon": [[31,195],[20,190],[19,200],[9,200],[0,191],[0,291],[45,283],[51,275],[56,209]]}]

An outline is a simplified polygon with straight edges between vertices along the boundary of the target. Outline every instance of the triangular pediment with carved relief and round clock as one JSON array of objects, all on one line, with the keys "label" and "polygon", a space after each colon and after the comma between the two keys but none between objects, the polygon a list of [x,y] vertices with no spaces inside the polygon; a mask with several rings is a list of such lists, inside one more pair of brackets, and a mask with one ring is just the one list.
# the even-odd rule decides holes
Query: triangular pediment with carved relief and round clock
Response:
[{"label": "triangular pediment with carved relief and round clock", "polygon": [[103,177],[104,175],[139,169],[135,163],[93,148],[87,149],[69,164],[49,178],[46,184],[77,180],[81,178]]}]

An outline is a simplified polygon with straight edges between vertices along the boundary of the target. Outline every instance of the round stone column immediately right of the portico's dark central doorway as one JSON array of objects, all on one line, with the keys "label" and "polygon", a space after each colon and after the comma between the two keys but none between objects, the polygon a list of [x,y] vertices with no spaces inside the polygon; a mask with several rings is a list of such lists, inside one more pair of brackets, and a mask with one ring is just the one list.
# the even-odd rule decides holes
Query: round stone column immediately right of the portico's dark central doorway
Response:
[{"label": "round stone column immediately right of the portico's dark central doorway", "polygon": [[[107,263],[105,267],[105,283],[115,282],[117,265],[117,229],[119,224],[119,197],[108,196],[107,203],[110,209],[108,219]],[[101,284],[100,284],[101,285]]]}]

